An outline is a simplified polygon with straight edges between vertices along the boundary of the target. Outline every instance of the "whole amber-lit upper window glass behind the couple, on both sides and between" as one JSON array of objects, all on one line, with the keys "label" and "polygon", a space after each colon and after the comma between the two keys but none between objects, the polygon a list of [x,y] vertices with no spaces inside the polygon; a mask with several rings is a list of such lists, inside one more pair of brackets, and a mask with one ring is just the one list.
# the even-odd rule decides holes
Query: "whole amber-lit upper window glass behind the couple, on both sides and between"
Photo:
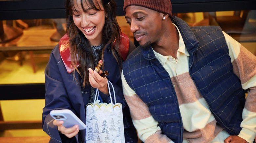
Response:
[{"label": "whole amber-lit upper window glass behind the couple, on both sides and between", "polygon": [[[176,13],[173,15],[180,17],[190,26],[221,26],[224,32],[242,44],[246,44],[245,47],[256,54],[256,10]],[[134,41],[124,16],[117,16],[117,21],[122,32]],[[43,83],[43,70],[48,62],[49,54],[65,34],[65,19],[7,20],[1,22],[4,34],[0,39],[0,51],[2,51],[0,52],[0,59],[3,61],[0,63],[2,69],[0,84]],[[5,63],[6,60],[3,59],[8,62]],[[12,65],[11,68],[5,66],[6,64]],[[23,72],[28,72],[27,77],[20,76],[20,74],[16,77],[14,73],[10,72],[25,66],[28,67],[20,72],[23,75],[26,75]],[[33,76],[40,72],[40,76]],[[7,76],[9,74],[11,77]]]}]

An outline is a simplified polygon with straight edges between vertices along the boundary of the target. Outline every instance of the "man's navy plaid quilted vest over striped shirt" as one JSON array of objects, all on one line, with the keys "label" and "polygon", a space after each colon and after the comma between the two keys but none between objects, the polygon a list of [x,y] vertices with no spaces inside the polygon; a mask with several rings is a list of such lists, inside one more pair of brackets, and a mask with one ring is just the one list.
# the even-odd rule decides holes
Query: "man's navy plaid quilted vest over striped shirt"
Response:
[{"label": "man's navy plaid quilted vest over striped shirt", "polygon": [[[241,81],[233,73],[222,29],[218,26],[188,27],[175,16],[172,22],[178,26],[190,54],[189,73],[197,89],[217,122],[230,135],[238,135],[245,93]],[[162,134],[181,143],[183,124],[178,99],[168,72],[152,48],[135,49],[123,63],[123,74],[128,85],[148,105]]]}]

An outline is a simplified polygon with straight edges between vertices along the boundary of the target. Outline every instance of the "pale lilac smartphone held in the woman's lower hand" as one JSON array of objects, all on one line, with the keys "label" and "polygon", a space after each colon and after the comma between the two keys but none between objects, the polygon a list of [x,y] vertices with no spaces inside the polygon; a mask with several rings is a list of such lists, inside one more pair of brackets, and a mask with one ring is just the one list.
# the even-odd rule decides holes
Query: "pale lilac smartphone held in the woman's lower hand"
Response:
[{"label": "pale lilac smartphone held in the woman's lower hand", "polygon": [[74,125],[79,126],[79,130],[84,130],[86,125],[69,109],[52,110],[50,115],[53,119],[63,120],[62,124],[66,128],[73,127]]}]

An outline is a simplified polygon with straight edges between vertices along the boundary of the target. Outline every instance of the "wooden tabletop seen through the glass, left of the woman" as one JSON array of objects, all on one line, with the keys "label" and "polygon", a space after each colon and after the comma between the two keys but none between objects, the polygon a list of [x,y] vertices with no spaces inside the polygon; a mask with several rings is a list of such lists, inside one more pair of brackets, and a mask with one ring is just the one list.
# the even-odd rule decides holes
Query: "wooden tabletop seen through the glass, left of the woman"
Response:
[{"label": "wooden tabletop seen through the glass, left of the woman", "polygon": [[55,29],[29,29],[7,43],[0,43],[0,51],[33,51],[52,50],[58,42],[51,41],[50,37]]}]

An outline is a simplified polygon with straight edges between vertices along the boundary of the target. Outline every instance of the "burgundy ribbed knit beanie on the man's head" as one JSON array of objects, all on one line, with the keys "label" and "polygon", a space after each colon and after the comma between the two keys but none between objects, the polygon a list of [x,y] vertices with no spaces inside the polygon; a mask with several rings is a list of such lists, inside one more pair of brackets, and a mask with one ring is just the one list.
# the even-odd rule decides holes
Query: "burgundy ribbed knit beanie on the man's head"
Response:
[{"label": "burgundy ribbed knit beanie on the man's head", "polygon": [[161,13],[167,13],[169,14],[169,17],[172,18],[172,4],[170,0],[124,0],[124,13],[125,8],[132,5],[149,8]]}]

